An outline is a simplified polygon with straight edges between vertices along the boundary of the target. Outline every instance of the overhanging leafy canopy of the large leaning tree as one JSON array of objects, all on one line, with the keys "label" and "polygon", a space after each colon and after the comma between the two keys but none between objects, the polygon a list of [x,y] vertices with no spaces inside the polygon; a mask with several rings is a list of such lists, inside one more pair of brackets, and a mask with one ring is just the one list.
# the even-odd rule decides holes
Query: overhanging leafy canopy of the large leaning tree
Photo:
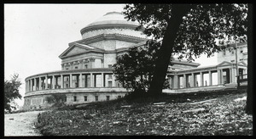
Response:
[{"label": "overhanging leafy canopy of the large leaning tree", "polygon": [[[127,19],[137,20],[144,27],[144,33],[155,41],[163,41],[167,26],[173,15],[175,4],[127,4],[124,14]],[[217,44],[231,41],[234,37],[246,37],[247,4],[211,3],[183,4],[189,7],[189,12],[183,15],[183,22],[177,31],[173,54],[178,58],[200,57],[201,53],[218,52]],[[173,15],[174,16],[174,15]],[[176,26],[173,26],[176,27]],[[218,42],[217,40],[218,39]],[[241,40],[242,41],[242,40]],[[195,56],[193,58],[193,56]]]}]

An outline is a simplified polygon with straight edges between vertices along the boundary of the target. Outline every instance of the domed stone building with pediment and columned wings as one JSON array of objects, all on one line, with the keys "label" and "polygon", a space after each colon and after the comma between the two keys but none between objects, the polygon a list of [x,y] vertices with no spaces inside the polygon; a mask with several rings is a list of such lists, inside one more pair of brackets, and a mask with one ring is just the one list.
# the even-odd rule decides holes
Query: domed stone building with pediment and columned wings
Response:
[{"label": "domed stone building with pediment and columned wings", "polygon": [[[111,12],[85,26],[80,31],[82,39],[70,42],[59,56],[61,70],[26,77],[23,108],[47,108],[50,104],[46,97],[55,93],[65,94],[67,104],[124,97],[127,91],[115,81],[112,65],[129,47],[146,44],[143,31],[135,30],[138,25],[127,21],[123,14]],[[199,65],[184,60],[172,61],[166,75],[171,89],[164,92],[198,91],[236,84],[236,65],[230,59],[213,66]],[[246,73],[245,62],[239,61],[238,67]]]}]

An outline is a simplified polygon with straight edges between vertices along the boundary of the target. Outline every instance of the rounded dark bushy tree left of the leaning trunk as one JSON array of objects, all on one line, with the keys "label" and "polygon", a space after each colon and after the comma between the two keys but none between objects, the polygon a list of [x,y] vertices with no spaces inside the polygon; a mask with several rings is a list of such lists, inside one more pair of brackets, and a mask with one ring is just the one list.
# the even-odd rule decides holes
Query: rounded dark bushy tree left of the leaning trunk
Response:
[{"label": "rounded dark bushy tree left of the leaning trunk", "polygon": [[[116,79],[131,92],[147,92],[155,66],[155,53],[160,47],[159,42],[147,42],[145,46],[132,47],[128,53],[117,57],[113,64]],[[150,47],[148,47],[150,46]],[[168,87],[166,81],[164,88]]]}]

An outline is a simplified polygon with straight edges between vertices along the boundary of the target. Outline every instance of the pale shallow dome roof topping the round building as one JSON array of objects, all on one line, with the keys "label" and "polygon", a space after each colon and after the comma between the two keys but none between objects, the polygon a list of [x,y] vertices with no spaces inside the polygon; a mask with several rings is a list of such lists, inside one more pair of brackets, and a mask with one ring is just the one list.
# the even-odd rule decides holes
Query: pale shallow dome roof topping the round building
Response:
[{"label": "pale shallow dome roof topping the round building", "polygon": [[81,30],[81,34],[83,35],[87,31],[114,27],[135,29],[138,25],[139,23],[137,21],[127,21],[124,14],[119,12],[109,12],[101,18],[96,19],[96,21],[90,25],[85,26]]}]

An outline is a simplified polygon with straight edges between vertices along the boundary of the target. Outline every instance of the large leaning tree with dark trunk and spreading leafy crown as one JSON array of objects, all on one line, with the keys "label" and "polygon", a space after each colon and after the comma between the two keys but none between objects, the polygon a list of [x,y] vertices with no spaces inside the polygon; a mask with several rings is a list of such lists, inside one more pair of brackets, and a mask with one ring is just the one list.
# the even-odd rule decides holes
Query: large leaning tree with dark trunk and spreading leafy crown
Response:
[{"label": "large leaning tree with dark trunk and spreading leafy crown", "polygon": [[206,53],[208,57],[223,47],[219,42],[247,36],[247,4],[142,4],[125,6],[127,19],[137,20],[144,33],[161,41],[148,92],[159,94],[166,70],[175,53],[189,61]]}]

